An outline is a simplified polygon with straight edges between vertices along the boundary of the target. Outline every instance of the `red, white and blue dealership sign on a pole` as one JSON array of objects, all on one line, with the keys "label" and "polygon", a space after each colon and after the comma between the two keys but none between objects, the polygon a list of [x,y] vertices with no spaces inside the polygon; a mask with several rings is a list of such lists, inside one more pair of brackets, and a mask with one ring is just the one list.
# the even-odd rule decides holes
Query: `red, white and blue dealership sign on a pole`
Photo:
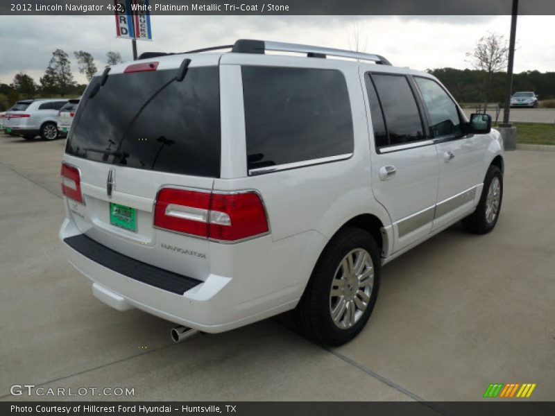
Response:
[{"label": "red, white and blue dealership sign on a pole", "polygon": [[114,0],[117,37],[152,40],[150,0]]}]

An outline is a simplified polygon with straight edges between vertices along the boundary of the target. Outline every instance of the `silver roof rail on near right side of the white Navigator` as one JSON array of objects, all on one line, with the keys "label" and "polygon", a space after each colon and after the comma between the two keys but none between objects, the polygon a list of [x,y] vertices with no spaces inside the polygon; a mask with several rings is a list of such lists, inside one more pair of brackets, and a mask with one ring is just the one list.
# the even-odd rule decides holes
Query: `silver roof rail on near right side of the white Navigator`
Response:
[{"label": "silver roof rail on near right side of the white Navigator", "polygon": [[337,56],[341,58],[369,60],[382,65],[391,65],[391,62],[386,60],[382,55],[376,55],[374,53],[362,53],[346,51],[344,49],[323,48],[321,46],[284,42],[268,42],[266,40],[239,39],[232,48],[232,52],[236,53],[264,53],[265,51],[306,53],[308,57],[313,58]]}]

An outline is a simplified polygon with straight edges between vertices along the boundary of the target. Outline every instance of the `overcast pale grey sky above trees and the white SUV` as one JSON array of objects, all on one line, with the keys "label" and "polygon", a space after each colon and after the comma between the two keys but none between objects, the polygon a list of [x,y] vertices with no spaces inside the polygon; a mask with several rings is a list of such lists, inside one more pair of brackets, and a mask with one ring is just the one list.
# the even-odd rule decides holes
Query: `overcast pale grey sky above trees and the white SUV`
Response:
[{"label": "overcast pale grey sky above trees and the white SUV", "polygon": [[[339,16],[154,16],[153,42],[137,42],[144,51],[187,51],[239,38],[296,42],[350,49],[354,22],[366,51],[384,55],[394,65],[414,69],[470,68],[466,52],[488,31],[509,38],[509,16],[339,17]],[[522,16],[518,20],[515,71],[555,71],[555,16]],[[11,83],[24,71],[39,82],[54,49],[71,55],[92,53],[97,67],[107,51],[131,59],[131,42],[115,37],[112,16],[0,16],[0,83]]]}]

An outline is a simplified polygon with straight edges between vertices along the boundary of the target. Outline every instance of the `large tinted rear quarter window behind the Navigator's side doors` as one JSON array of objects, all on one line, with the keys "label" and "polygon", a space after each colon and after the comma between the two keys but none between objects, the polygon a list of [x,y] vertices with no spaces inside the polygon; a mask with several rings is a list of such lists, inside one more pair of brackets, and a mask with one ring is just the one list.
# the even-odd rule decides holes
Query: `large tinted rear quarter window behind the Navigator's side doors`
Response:
[{"label": "large tinted rear quarter window behind the Navigator's side doors", "polygon": [[350,101],[340,71],[241,71],[249,170],[352,153]]}]

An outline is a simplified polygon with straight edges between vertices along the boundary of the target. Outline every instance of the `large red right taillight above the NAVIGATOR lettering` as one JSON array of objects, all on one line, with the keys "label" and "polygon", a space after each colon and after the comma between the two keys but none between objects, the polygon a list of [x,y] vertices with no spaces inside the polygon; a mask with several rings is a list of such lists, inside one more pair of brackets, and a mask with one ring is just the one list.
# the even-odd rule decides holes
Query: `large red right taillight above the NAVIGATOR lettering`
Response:
[{"label": "large red right taillight above the NAVIGATOR lettering", "polygon": [[215,241],[239,241],[268,232],[266,210],[255,191],[210,193],[161,189],[154,225]]}]

